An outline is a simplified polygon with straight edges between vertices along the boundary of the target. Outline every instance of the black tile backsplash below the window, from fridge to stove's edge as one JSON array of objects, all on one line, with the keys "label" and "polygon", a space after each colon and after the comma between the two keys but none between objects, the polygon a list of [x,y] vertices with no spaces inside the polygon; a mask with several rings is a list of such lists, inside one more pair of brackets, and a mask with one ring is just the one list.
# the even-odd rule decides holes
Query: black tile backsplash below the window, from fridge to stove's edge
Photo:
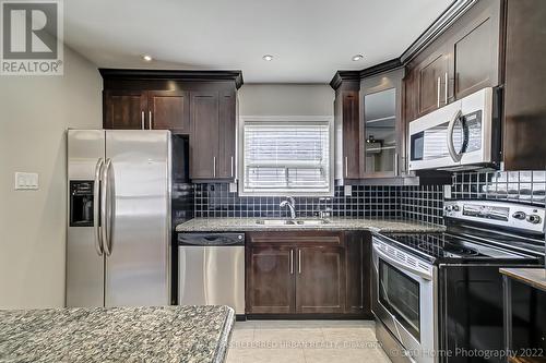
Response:
[{"label": "black tile backsplash below the window, from fridge to stove's edge", "polygon": [[[194,185],[198,218],[284,218],[288,209],[278,204],[284,196],[238,196],[228,184]],[[296,197],[298,217],[327,213],[334,218],[396,218],[442,223],[442,187],[353,185],[351,195],[335,186],[333,197]]]}]

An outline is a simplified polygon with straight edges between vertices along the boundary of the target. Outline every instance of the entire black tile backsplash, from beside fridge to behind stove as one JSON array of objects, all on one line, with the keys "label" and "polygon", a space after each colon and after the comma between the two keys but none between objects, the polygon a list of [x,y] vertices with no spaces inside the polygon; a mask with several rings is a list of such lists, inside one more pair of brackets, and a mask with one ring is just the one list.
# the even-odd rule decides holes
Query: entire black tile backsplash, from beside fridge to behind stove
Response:
[{"label": "entire black tile backsplash, from beside fridge to behind stove", "polygon": [[[459,172],[452,198],[487,198],[545,204],[546,171]],[[284,196],[239,196],[227,183],[193,184],[198,218],[285,218]],[[385,218],[443,225],[443,185],[353,185],[351,195],[335,186],[333,197],[296,197],[297,217],[327,213],[334,218]]]}]

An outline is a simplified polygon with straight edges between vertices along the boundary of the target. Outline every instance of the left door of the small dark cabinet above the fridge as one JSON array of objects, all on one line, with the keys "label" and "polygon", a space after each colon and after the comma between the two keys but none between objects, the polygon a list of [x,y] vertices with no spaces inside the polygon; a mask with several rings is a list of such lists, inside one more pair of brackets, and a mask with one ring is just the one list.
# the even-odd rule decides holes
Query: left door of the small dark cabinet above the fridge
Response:
[{"label": "left door of the small dark cabinet above the fridge", "polygon": [[140,90],[105,90],[103,93],[105,129],[143,130],[147,93]]}]

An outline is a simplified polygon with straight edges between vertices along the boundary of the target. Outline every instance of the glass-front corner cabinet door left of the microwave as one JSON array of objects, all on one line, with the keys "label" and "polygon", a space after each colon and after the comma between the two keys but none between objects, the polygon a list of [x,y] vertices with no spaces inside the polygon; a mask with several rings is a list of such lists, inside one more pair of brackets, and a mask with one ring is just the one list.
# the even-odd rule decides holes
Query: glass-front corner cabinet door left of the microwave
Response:
[{"label": "glass-front corner cabinet door left of the microwave", "polygon": [[403,70],[363,80],[361,148],[365,178],[391,178],[402,172],[405,130],[400,95]]}]

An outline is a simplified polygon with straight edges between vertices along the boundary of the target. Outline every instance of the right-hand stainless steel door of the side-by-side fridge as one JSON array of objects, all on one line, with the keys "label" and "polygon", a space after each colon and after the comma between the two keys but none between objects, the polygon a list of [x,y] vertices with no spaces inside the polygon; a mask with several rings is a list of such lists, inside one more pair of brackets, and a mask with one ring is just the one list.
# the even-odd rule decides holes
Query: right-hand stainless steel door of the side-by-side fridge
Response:
[{"label": "right-hand stainless steel door of the side-by-side fridge", "polygon": [[170,304],[170,133],[106,131],[106,306]]}]

